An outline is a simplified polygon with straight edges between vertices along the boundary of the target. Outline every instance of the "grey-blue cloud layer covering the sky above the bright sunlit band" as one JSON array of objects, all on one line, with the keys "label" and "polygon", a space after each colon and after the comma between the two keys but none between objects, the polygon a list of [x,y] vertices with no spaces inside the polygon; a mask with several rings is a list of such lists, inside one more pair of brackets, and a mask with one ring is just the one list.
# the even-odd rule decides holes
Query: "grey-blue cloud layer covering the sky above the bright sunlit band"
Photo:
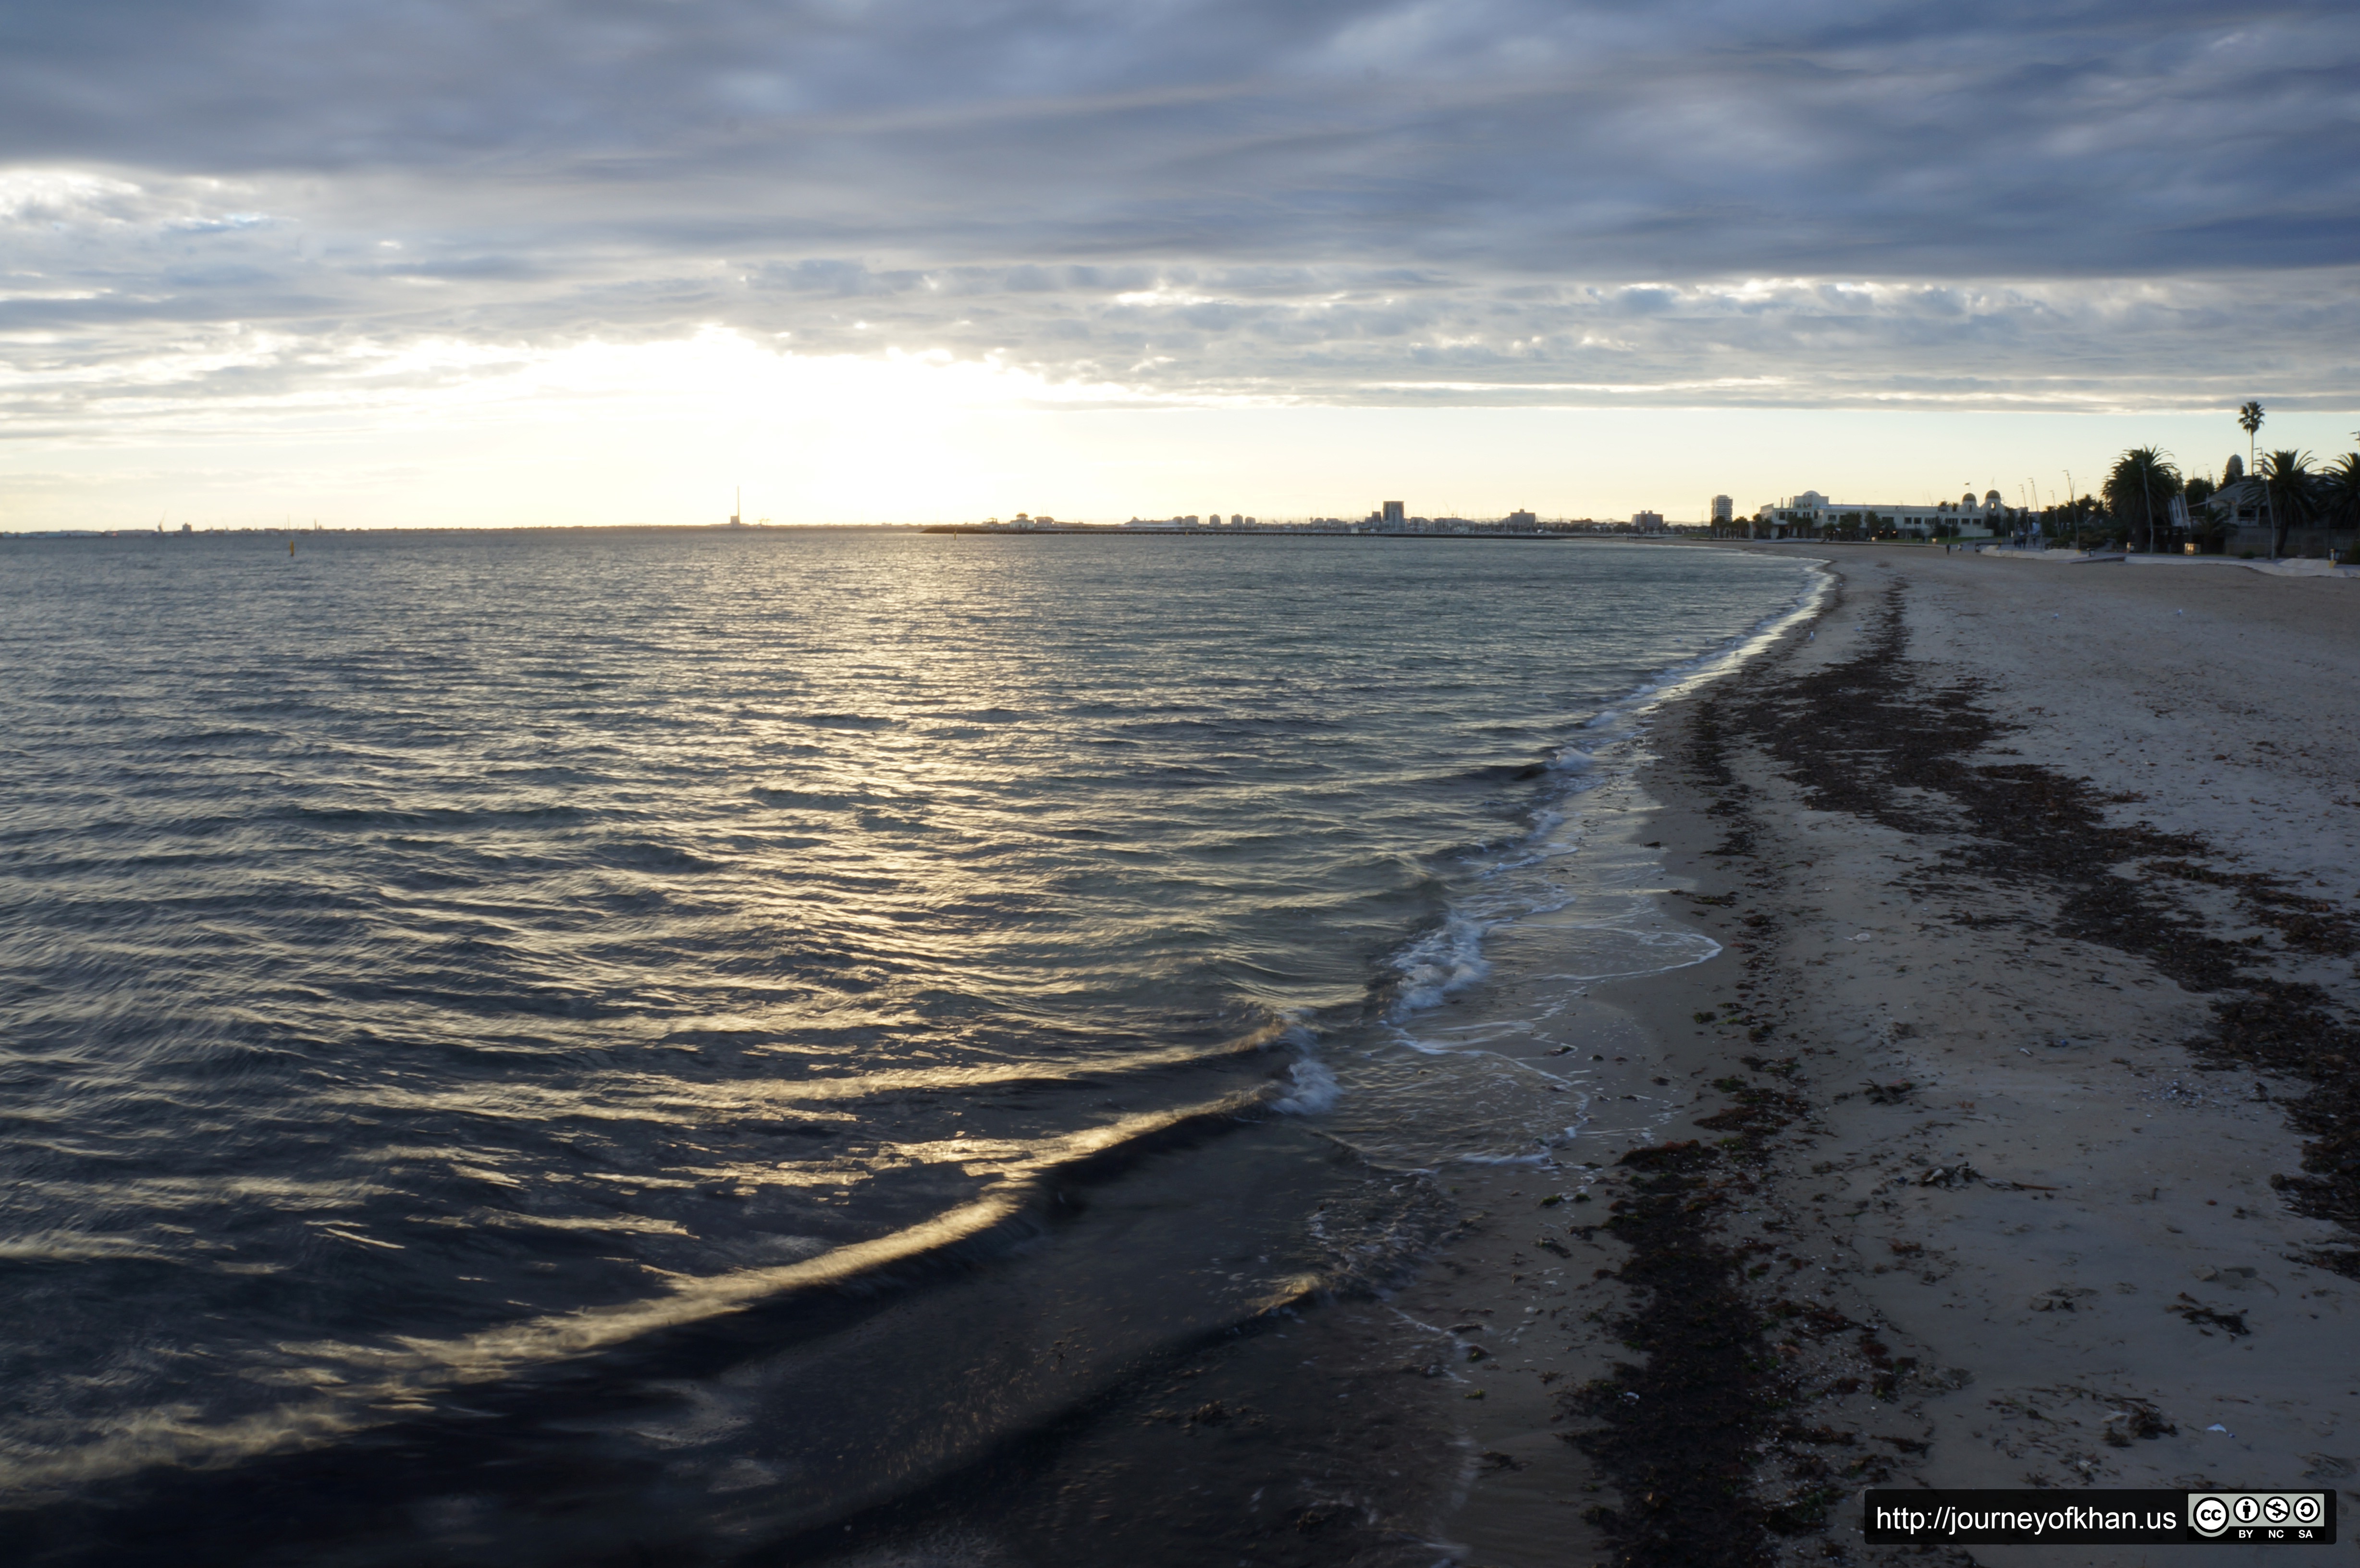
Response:
[{"label": "grey-blue cloud layer covering the sky above the bright sunlit band", "polygon": [[2195,0],[28,5],[0,432],[708,328],[1168,399],[2339,406],[2355,66],[2348,9]]}]

